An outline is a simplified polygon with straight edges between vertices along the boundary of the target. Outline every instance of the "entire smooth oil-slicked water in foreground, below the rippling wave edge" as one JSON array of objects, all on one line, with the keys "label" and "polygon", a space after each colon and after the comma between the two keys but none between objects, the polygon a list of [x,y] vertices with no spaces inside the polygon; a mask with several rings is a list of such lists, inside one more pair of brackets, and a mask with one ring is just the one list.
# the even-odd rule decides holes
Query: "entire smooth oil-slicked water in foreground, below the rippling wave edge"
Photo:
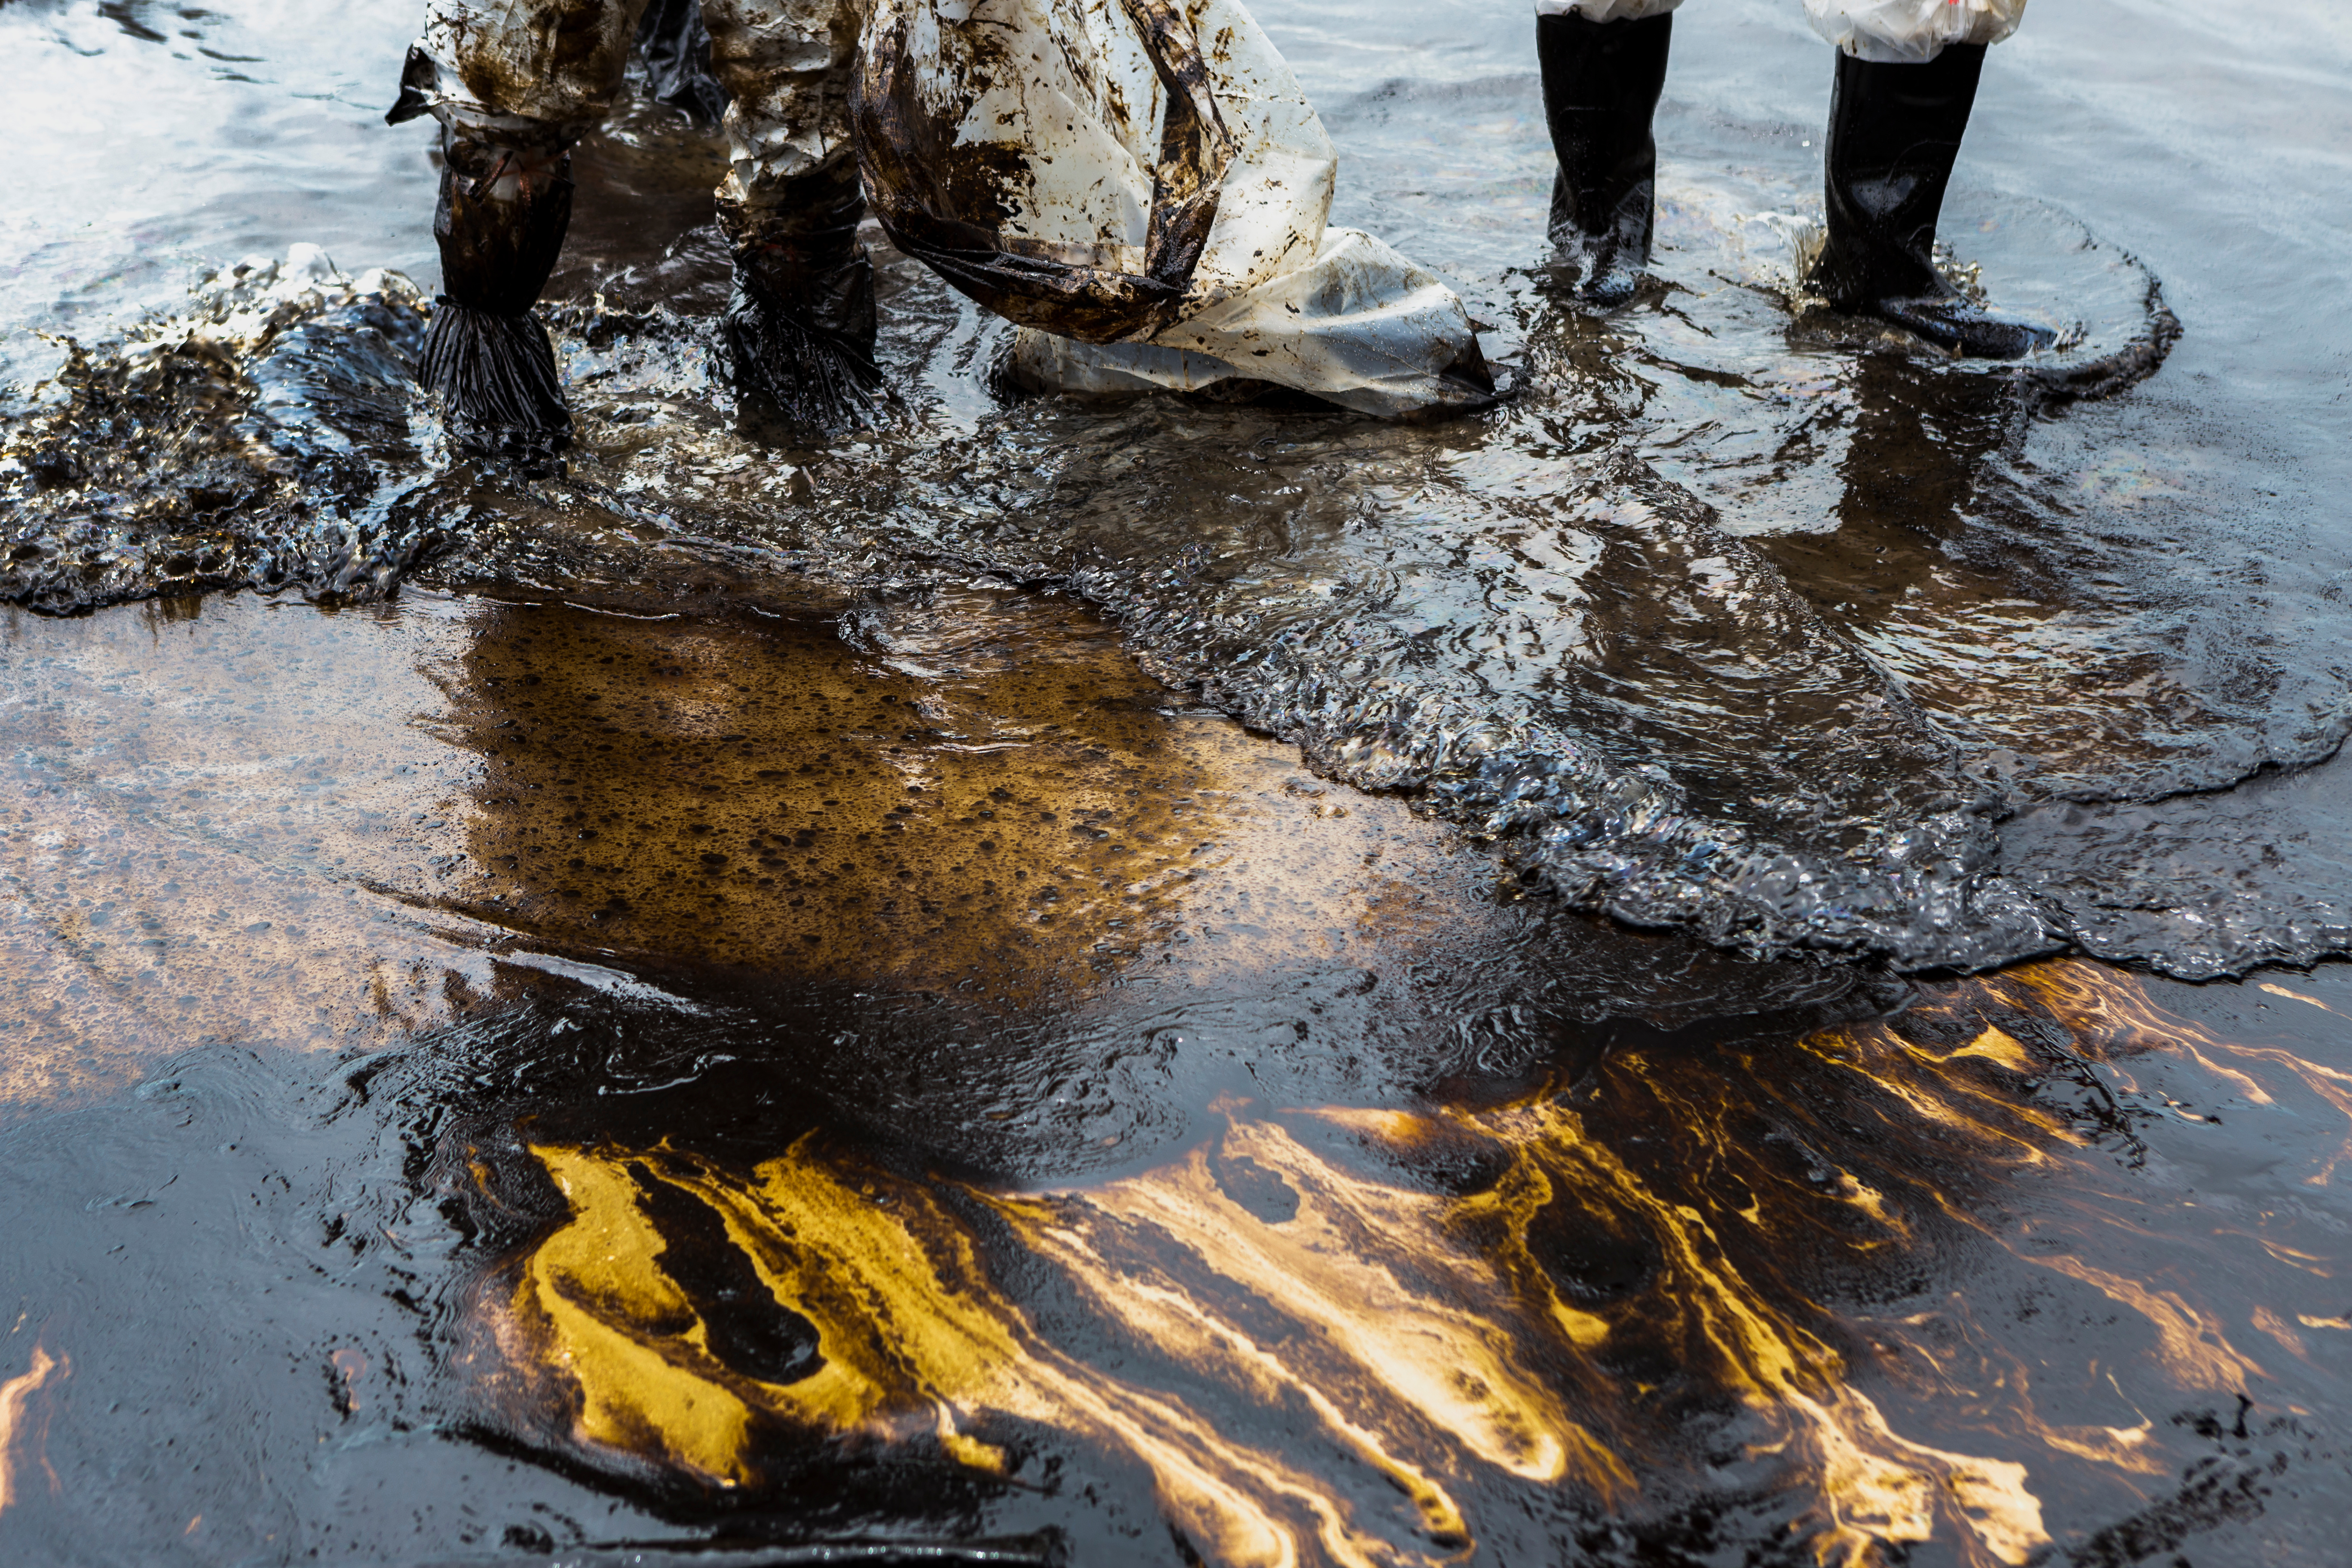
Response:
[{"label": "entire smooth oil-slicked water in foreground, below the rippling wave edge", "polygon": [[1054,599],[661,604],[12,621],[0,1535],[221,1422],[259,1472],[141,1497],[230,1554],[449,1549],[301,1502],[440,1476],[524,1542],[2300,1561],[2352,1483],[2340,976],[1733,964]]}]

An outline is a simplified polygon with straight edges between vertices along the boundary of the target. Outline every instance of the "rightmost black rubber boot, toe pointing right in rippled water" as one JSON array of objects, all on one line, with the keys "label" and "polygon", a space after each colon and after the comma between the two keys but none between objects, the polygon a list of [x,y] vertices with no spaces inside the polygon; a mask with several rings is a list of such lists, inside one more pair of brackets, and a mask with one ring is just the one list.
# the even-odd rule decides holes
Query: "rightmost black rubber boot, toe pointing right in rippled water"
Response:
[{"label": "rightmost black rubber boot, toe pointing right in rippled water", "polygon": [[1830,235],[1809,284],[1839,310],[1875,315],[1959,355],[2016,360],[2056,336],[1987,313],[1936,270],[1959,136],[1985,45],[1945,45],[1924,66],[1839,52],[1830,92]]}]

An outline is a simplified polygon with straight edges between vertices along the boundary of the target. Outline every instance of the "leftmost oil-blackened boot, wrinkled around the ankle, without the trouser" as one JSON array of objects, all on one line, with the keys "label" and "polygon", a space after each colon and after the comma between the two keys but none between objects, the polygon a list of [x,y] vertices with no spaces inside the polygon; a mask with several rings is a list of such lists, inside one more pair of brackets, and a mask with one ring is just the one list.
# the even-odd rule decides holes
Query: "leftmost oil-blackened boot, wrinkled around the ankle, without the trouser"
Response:
[{"label": "leftmost oil-blackened boot, wrinkled around the ankle, without the trouser", "polygon": [[461,447],[550,456],[572,414],[532,306],[572,223],[572,158],[447,134],[442,155],[442,296],[416,378],[440,393]]}]

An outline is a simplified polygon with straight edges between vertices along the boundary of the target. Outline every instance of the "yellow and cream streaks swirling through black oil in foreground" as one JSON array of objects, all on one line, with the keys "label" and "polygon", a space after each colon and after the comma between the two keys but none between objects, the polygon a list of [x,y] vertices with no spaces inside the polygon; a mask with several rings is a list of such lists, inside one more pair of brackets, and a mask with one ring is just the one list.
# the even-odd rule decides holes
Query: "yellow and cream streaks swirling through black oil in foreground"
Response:
[{"label": "yellow and cream streaks swirling through black oil in foreground", "polygon": [[[2086,964],[1950,987],[1912,1018],[1950,1025],[1947,1044],[1865,1025],[1780,1051],[1816,1081],[1867,1086],[1891,1135],[1987,1173],[2084,1154],[2084,1133],[2027,1093],[2053,1063],[2082,1060],[2067,1053],[2103,1053],[2112,1072],[2129,1037],[2216,1070],[2265,1067],[2230,1067],[2230,1046]],[[2074,1044],[2034,1044],[2051,1023]],[[1011,1476],[1002,1432],[1042,1427],[1141,1465],[1204,1561],[1251,1568],[1456,1561],[1498,1486],[1639,1512],[1693,1483],[1668,1382],[1738,1413],[1738,1462],[1771,1476],[1792,1544],[1823,1566],[1926,1540],[1957,1561],[2027,1563],[2051,1544],[2032,1453],[2124,1488],[2169,1467],[2145,1418],[2046,1422],[2025,1361],[1997,1342],[1940,1349],[1915,1319],[1882,1335],[1931,1382],[1980,1356],[2013,1441],[1969,1453],[1905,1436],[1776,1244],[1898,1258],[1922,1227],[1966,1232],[2133,1314],[2173,1387],[2237,1394],[2265,1375],[2180,1291],[2020,1246],[1943,1192],[1776,1171],[1740,1131],[1755,1093],[1731,1081],[1740,1063],[1693,1056],[1609,1067],[1675,1117],[1677,1159],[1696,1168],[1672,1178],[1595,1135],[1557,1086],[1489,1110],[1221,1103],[1223,1133],[1169,1164],[1047,1192],[910,1180],[814,1135],[750,1171],[675,1147],[541,1145],[569,1220],[517,1260],[501,1333],[555,1375],[569,1441],[588,1450],[722,1488],[764,1483],[793,1443],[840,1439],[929,1443]],[[2293,1072],[2333,1103],[2326,1074]],[[1802,1098],[1778,1093],[1780,1124],[1802,1126]],[[1468,1150],[1484,1175],[1414,1180],[1435,1147]],[[774,1305],[814,1331],[816,1366],[764,1382],[713,1349],[694,1293],[666,1272],[673,1239],[649,1185],[720,1215]],[[1559,1246],[1611,1239],[1646,1258],[1639,1288],[1562,1284]],[[1037,1279],[1054,1281],[1044,1316]],[[2298,1333],[2272,1319],[2272,1338]],[[1275,1429],[1291,1439],[1268,1441]]]}]

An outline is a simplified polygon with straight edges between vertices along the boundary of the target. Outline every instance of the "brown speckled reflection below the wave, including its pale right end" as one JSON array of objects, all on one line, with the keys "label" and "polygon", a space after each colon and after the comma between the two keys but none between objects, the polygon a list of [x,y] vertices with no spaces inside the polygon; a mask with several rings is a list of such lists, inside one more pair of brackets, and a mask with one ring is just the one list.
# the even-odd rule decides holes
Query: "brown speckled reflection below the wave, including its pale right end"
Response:
[{"label": "brown speckled reflection below the wave, including its pale right end", "polygon": [[[440,675],[485,757],[459,900],[771,983],[1028,1006],[1145,947],[1343,961],[1374,903],[1409,938],[1435,867],[1381,865],[1402,813],[1183,712],[1101,623],[957,592],[847,630],[866,651],[807,621],[489,609]],[[1319,907],[1350,882],[1357,910]]]}]

